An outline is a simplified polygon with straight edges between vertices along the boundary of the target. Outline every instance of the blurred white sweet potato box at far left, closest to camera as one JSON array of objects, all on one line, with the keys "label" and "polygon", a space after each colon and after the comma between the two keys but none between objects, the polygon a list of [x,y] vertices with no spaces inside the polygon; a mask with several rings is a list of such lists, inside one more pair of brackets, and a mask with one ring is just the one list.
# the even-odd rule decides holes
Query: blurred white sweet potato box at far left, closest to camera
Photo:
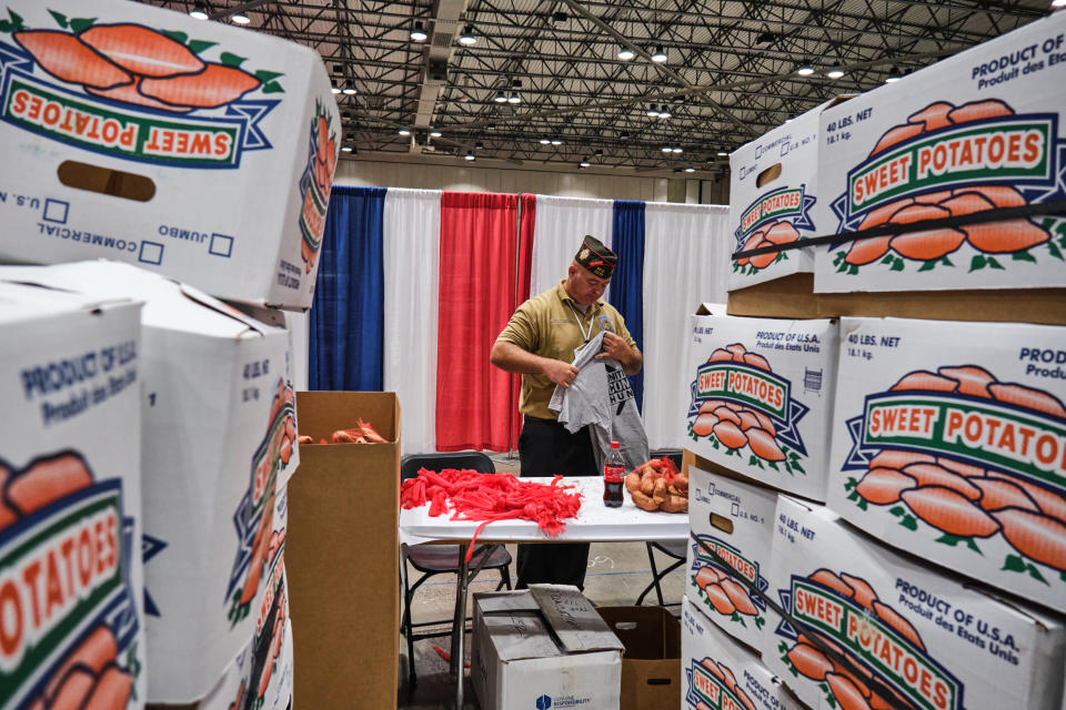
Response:
[{"label": "blurred white sweet potato box at far left, closest to camera", "polygon": [[0,277],[0,707],[143,707],[140,311]]}]

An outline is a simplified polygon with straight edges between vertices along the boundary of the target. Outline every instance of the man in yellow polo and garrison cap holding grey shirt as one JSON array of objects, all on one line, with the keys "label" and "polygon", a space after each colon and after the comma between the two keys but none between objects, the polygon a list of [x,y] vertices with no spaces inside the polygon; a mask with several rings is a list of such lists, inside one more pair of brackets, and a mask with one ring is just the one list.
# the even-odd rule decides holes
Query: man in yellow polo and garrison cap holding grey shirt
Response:
[{"label": "man in yellow polo and garrison cap holding grey shirt", "polygon": [[[589,427],[571,434],[547,405],[556,385],[567,388],[577,376],[571,364],[574,351],[600,332],[603,349],[597,359],[617,361],[626,375],[635,375],[644,363],[622,316],[600,300],[616,263],[614,252],[594,236],[585,236],[566,278],[519,306],[492,346],[493,365],[522,375],[519,457],[523,477],[601,474]],[[517,588],[536,582],[584,588],[587,561],[587,542],[520,545]]]}]

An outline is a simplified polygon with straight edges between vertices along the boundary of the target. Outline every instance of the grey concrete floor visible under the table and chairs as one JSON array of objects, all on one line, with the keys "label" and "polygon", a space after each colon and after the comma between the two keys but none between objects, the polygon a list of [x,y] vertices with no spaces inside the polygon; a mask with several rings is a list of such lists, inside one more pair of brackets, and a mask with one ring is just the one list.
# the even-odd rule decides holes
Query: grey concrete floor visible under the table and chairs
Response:
[{"label": "grey concrete floor visible under the table and chairs", "polygon": [[[514,470],[516,459],[505,456],[493,457],[496,460],[496,470]],[[514,546],[507,546],[514,557]],[[658,569],[670,565],[670,558],[655,552],[655,564]],[[514,581],[514,566],[511,567],[512,584]],[[470,585],[470,592],[492,591],[500,581],[495,571],[482,572]],[[593,544],[589,551],[589,571],[585,576],[585,596],[597,607],[632,606],[641,591],[652,581],[651,567],[647,561],[647,548],[642,542]],[[674,613],[680,612],[681,597],[684,594],[684,565],[670,572],[661,585],[664,600],[675,606],[668,607]],[[467,615],[471,613],[467,599]],[[455,604],[455,582],[447,581],[444,575],[439,575],[424,584],[415,594],[412,613],[415,621],[430,619],[450,619]],[[645,606],[657,604],[655,591],[644,599]],[[402,613],[402,609],[401,609]],[[450,622],[449,622],[450,623]],[[449,627],[442,625],[441,629]],[[466,660],[470,660],[471,636],[467,632],[463,642]],[[446,636],[416,641],[414,645],[414,663],[418,682],[412,688],[408,681],[406,641],[400,639],[400,710],[451,710],[454,708],[455,684],[449,677],[447,662],[441,658],[433,646],[444,652],[451,651],[451,639]],[[470,686],[469,670],[463,678],[463,708],[479,708],[473,688]]]}]

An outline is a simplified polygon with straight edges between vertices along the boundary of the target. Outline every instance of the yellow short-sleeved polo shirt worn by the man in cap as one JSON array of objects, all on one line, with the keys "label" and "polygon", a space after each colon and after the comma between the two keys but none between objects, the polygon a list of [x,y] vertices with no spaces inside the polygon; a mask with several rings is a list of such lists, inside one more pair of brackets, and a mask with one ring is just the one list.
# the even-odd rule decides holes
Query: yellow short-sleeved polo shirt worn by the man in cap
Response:
[{"label": "yellow short-sleeved polo shirt worn by the man in cap", "polygon": [[[610,331],[625,339],[630,347],[636,348],[625,321],[613,306],[596,301],[586,313],[582,313],[566,294],[564,283],[565,280],[560,281],[554,288],[519,306],[496,342],[513,343],[534,355],[564,363],[574,362],[574,349],[584,345],[586,338],[582,331],[587,333],[590,339],[600,331]],[[547,408],[554,390],[555,384],[544,375],[522,375],[519,409],[522,414],[542,419],[556,418],[555,413]]]}]

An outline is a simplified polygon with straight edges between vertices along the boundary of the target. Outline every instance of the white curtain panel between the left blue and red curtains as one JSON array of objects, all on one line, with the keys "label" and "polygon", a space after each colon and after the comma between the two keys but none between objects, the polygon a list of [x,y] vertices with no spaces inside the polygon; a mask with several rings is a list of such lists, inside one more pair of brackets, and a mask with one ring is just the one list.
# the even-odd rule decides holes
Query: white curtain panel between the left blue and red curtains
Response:
[{"label": "white curtain panel between the left blue and red curtains", "polygon": [[385,193],[384,388],[400,399],[402,454],[436,450],[441,191]]}]

